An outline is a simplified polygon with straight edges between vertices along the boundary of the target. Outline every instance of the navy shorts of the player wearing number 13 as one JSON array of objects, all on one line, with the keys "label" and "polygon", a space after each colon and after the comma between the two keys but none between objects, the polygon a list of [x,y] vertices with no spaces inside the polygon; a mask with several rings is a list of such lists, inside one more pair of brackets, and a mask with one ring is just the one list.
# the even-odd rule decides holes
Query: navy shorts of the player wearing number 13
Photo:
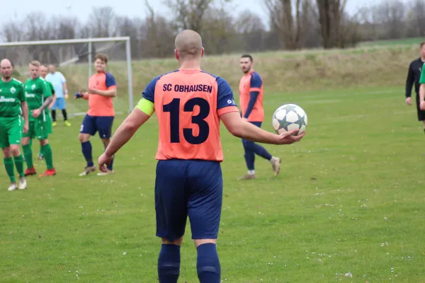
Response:
[{"label": "navy shorts of the player wearing number 13", "polygon": [[157,236],[175,241],[191,221],[193,239],[217,238],[223,179],[219,162],[162,160],[157,163]]}]

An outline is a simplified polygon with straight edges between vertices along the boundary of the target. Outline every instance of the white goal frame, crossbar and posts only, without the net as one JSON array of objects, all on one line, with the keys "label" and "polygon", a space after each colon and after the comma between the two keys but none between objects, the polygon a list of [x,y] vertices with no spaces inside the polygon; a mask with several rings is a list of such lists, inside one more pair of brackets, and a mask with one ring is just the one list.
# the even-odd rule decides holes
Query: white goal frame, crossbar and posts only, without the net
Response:
[{"label": "white goal frame, crossbar and posts only, without the net", "polygon": [[132,111],[133,105],[133,92],[132,92],[132,67],[131,67],[131,50],[130,50],[130,37],[95,37],[95,38],[77,38],[69,40],[38,40],[38,41],[16,41],[16,42],[0,42],[0,47],[16,47],[28,45],[60,45],[72,43],[88,43],[88,57],[89,57],[89,77],[91,76],[91,68],[93,66],[92,47],[94,42],[125,42],[125,59],[127,61],[128,73],[128,104],[129,110]]}]

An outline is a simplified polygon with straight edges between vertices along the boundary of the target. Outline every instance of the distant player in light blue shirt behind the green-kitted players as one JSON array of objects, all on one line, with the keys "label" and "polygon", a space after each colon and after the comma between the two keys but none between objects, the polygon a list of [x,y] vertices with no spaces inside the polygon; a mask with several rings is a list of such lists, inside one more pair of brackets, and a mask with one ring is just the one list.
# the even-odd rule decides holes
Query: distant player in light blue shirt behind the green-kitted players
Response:
[{"label": "distant player in light blue shirt behind the green-kitted players", "polygon": [[46,81],[52,83],[53,88],[55,89],[56,99],[53,101],[52,105],[52,126],[56,127],[56,108],[62,110],[62,116],[64,117],[64,125],[71,127],[71,123],[68,121],[66,99],[68,99],[68,88],[67,80],[60,71],[56,71],[55,66],[49,65],[50,73],[45,76]]}]

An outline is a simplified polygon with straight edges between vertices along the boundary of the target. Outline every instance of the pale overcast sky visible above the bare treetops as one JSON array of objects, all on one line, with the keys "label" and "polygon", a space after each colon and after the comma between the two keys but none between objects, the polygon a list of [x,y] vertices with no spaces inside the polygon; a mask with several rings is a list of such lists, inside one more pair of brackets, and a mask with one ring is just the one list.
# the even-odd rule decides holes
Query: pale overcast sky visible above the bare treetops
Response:
[{"label": "pale overcast sky visible above the bare treetops", "polygon": [[[167,8],[162,4],[162,0],[148,0],[149,4],[157,13],[167,15]],[[359,6],[365,6],[368,2],[378,0],[348,0],[347,10],[349,13],[356,11]],[[379,0],[380,1],[380,0]],[[100,3],[100,4],[96,4]],[[0,23],[4,23],[9,19],[18,15],[23,18],[28,13],[34,11],[43,11],[47,15],[72,15],[77,16],[81,22],[85,22],[94,6],[111,6],[120,16],[140,16],[147,14],[145,1],[142,0],[5,0],[0,8]],[[234,13],[240,13],[245,9],[249,9],[266,18],[266,11],[263,0],[233,0]],[[169,14],[169,13],[168,13]]]}]

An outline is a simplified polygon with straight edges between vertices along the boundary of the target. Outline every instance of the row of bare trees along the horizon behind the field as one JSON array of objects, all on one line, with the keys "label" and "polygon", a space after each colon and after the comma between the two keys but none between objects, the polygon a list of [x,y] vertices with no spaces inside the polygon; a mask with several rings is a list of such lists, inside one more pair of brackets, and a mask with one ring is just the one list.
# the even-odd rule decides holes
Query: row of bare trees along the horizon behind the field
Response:
[{"label": "row of bare trees along the horizon behind the field", "polygon": [[[351,15],[346,13],[347,1],[351,0],[264,0],[266,19],[255,11],[235,15],[231,0],[163,0],[173,11],[172,18],[155,13],[147,2],[144,17],[117,15],[113,8],[103,6],[93,8],[86,23],[37,12],[22,21],[6,22],[0,37],[12,42],[130,36],[132,57],[139,59],[170,56],[174,36],[186,28],[203,36],[208,54],[344,48],[361,40],[425,35],[423,0],[382,0]],[[43,51],[42,47],[32,48]],[[84,46],[81,49],[86,50]]]}]

